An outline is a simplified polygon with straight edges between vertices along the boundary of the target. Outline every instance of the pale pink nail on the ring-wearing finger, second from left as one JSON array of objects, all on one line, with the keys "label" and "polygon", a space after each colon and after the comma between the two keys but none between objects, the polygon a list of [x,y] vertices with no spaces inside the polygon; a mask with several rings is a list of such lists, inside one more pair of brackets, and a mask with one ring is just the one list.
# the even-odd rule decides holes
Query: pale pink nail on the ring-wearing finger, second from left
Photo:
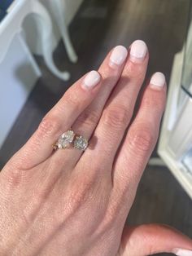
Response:
[{"label": "pale pink nail on the ring-wearing finger, second from left", "polygon": [[124,63],[124,60],[126,60],[128,55],[128,51],[124,46],[116,46],[110,57],[109,65],[113,68],[117,66],[120,66]]}]

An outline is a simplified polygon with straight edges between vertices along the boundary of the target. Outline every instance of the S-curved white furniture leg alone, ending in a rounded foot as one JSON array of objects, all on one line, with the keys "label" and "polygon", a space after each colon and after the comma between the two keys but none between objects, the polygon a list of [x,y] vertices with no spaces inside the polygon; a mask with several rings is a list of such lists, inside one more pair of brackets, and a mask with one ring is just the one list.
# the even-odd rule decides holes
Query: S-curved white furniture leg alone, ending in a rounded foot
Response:
[{"label": "S-curved white furniture leg alone, ending in a rounded foot", "polygon": [[50,71],[55,74],[55,76],[59,77],[60,79],[67,81],[70,77],[70,74],[65,71],[61,72],[55,66],[53,55],[52,55],[52,46],[51,46],[51,37],[53,36],[52,33],[52,22],[50,20],[50,15],[46,11],[46,8],[38,1],[33,2],[33,13],[37,15],[37,25],[39,28],[39,33],[41,37],[41,49],[43,57],[46,61],[46,65],[50,68]]}]

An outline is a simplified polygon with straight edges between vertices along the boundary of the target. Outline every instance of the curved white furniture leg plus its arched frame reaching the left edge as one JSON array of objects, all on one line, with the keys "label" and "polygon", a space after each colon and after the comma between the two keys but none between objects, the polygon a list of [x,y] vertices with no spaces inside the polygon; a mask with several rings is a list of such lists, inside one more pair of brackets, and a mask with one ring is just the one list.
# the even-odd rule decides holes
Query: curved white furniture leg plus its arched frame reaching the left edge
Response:
[{"label": "curved white furniture leg plus its arched frame reaching the left edge", "polygon": [[8,47],[15,36],[15,33],[20,33],[22,31],[22,24],[24,18],[27,15],[37,15],[37,28],[39,29],[39,38],[41,41],[42,55],[46,61],[47,67],[50,69],[55,76],[63,80],[68,80],[70,75],[68,72],[61,72],[55,66],[53,60],[53,47],[51,38],[53,35],[52,21],[50,15],[41,2],[38,0],[20,0],[15,1],[15,4],[9,9],[7,17],[2,20],[0,26],[0,62],[3,60],[7,53]]}]

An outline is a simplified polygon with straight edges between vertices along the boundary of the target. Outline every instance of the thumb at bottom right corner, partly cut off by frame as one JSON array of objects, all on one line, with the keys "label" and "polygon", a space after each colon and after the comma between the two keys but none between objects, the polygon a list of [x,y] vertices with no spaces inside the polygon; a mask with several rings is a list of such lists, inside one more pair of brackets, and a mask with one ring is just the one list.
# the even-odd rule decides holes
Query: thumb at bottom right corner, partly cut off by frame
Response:
[{"label": "thumb at bottom right corner, partly cut off by frame", "polygon": [[192,240],[171,227],[150,224],[124,227],[120,256],[145,256],[172,253],[192,256]]}]

